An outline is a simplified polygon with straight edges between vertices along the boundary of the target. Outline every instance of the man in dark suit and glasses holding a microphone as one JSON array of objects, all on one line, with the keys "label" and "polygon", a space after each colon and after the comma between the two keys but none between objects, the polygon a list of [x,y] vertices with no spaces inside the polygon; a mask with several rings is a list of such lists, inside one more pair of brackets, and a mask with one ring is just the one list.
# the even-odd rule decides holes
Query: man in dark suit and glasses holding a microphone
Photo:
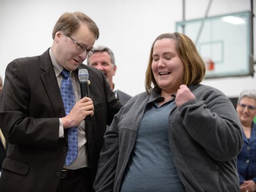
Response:
[{"label": "man in dark suit and glasses holding a microphone", "polygon": [[[83,64],[97,38],[99,29],[90,17],[63,13],[52,31],[51,48],[40,56],[13,60],[6,67],[0,127],[9,145],[0,191],[93,191],[106,124],[122,107],[104,74]],[[81,68],[88,70],[90,98],[79,99]],[[68,114],[60,90],[66,78],[72,81],[70,97],[73,92],[76,101]],[[84,120],[86,116],[91,117]],[[78,154],[69,164],[71,127],[78,132],[72,138],[78,137],[78,148],[73,150]]]}]

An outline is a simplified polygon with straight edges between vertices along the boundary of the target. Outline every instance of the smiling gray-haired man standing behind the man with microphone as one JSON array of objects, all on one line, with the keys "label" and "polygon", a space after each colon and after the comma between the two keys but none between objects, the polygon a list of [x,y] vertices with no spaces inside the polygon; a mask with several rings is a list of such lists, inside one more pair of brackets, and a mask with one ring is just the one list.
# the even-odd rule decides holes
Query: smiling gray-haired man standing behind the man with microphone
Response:
[{"label": "smiling gray-haired man standing behind the man with microphone", "polygon": [[88,56],[87,65],[95,67],[101,70],[111,87],[111,90],[115,93],[116,97],[124,105],[131,99],[131,95],[118,90],[113,83],[113,76],[116,74],[116,63],[113,51],[105,46],[97,46],[93,48],[94,54]]}]

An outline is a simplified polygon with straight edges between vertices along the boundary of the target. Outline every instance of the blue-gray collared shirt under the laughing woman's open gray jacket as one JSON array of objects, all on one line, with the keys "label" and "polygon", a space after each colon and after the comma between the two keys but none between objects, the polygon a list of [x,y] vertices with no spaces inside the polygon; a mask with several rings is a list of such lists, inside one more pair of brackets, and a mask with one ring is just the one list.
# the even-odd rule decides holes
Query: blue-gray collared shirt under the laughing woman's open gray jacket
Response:
[{"label": "blue-gray collared shirt under the laughing woman's open gray jacket", "polygon": [[122,192],[186,191],[168,140],[168,118],[174,106],[173,99],[160,107],[157,102],[149,104],[125,169]]}]

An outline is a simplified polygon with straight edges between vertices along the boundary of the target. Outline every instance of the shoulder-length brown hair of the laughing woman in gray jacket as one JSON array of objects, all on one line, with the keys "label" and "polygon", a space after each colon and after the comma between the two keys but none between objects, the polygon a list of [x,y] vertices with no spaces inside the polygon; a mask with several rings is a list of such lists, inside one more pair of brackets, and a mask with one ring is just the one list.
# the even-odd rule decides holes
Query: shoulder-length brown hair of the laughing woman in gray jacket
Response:
[{"label": "shoulder-length brown hair of the laughing woman in gray jacket", "polygon": [[163,38],[172,38],[176,42],[176,51],[178,52],[180,60],[184,65],[183,83],[187,86],[189,84],[199,84],[205,76],[205,64],[198,53],[195,44],[188,36],[182,33],[163,33],[162,35],[157,36],[150,50],[145,79],[146,91],[149,93],[153,89],[153,83],[154,87],[156,87],[156,91],[161,92],[161,88],[159,88],[156,83],[156,79],[153,76],[151,65],[153,60],[152,54],[154,51],[154,45],[157,40],[161,40]]}]

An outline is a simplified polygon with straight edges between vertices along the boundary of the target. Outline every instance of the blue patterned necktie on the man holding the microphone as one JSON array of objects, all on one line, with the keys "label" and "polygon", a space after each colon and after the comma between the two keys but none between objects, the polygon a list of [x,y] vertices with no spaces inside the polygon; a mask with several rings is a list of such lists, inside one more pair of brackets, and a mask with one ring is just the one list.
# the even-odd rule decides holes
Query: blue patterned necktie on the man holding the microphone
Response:
[{"label": "blue patterned necktie on the man holding the microphone", "polygon": [[[65,113],[68,115],[75,105],[74,90],[70,79],[70,72],[64,68],[61,74],[63,79],[61,81],[60,92]],[[65,164],[67,164],[67,166],[70,165],[77,157],[77,143],[77,127],[68,128],[68,154],[65,160]]]}]

